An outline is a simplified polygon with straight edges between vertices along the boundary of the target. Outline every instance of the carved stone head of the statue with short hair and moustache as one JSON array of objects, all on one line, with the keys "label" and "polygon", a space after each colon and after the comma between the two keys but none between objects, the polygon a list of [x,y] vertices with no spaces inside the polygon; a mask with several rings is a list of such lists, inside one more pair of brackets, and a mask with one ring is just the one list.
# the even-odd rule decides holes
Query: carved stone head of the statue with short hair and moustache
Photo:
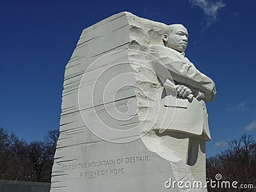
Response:
[{"label": "carved stone head of the statue with short hair and moustache", "polygon": [[188,46],[188,30],[182,24],[172,24],[164,29],[165,47],[184,52]]}]

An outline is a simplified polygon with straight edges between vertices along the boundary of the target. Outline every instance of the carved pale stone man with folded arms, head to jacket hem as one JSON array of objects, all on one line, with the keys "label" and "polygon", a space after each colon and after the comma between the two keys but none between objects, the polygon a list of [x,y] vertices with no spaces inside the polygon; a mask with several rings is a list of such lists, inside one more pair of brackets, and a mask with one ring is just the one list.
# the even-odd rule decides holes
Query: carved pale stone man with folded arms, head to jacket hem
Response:
[{"label": "carved pale stone man with folded arms, head to jacket hem", "polygon": [[[164,102],[165,107],[176,108],[172,123],[166,131],[183,132],[193,140],[207,141],[211,140],[211,136],[205,102],[214,99],[216,88],[212,79],[197,70],[186,58],[184,51],[187,46],[188,30],[181,24],[164,29],[163,45],[150,46],[150,54],[164,64],[172,77],[166,76],[163,70],[156,67],[157,76],[161,77],[163,84],[168,84],[173,78],[177,92],[175,105]],[[165,100],[173,99],[168,94],[165,96]]]}]

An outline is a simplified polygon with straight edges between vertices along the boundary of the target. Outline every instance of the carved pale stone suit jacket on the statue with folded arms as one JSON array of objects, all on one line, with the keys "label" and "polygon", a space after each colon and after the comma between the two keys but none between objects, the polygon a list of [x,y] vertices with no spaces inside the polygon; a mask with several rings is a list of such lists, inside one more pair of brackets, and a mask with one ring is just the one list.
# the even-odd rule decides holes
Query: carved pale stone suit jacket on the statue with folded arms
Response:
[{"label": "carved pale stone suit jacket on the statue with folded arms", "polygon": [[175,108],[172,123],[166,131],[186,132],[199,136],[202,140],[211,140],[205,102],[213,100],[216,95],[212,79],[197,70],[195,65],[180,52],[163,45],[152,45],[149,52],[156,57],[152,64],[163,84],[173,78],[176,83],[184,84],[202,93],[202,97],[195,97],[195,95],[190,100],[176,95],[164,97],[161,101],[161,108],[167,108],[167,110]]}]

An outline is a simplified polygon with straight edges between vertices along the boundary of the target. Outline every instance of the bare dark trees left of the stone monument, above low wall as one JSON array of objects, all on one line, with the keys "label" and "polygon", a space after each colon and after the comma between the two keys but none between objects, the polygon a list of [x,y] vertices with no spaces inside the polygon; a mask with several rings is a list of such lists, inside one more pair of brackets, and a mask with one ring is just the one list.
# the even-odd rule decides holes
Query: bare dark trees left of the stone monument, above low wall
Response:
[{"label": "bare dark trees left of the stone monument, above low wall", "polygon": [[27,143],[0,128],[0,179],[50,182],[58,130]]}]

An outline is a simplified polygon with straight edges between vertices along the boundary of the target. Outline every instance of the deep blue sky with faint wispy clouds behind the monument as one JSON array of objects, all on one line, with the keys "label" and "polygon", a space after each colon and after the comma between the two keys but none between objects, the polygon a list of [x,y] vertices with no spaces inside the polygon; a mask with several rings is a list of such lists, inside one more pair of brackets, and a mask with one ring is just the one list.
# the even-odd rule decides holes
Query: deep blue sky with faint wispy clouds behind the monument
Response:
[{"label": "deep blue sky with faint wispy clouds behind the monument", "polygon": [[256,140],[255,6],[249,0],[2,1],[0,127],[28,142],[58,129],[65,65],[82,30],[127,11],[188,28],[186,56],[217,89],[207,103],[207,156],[244,133]]}]

